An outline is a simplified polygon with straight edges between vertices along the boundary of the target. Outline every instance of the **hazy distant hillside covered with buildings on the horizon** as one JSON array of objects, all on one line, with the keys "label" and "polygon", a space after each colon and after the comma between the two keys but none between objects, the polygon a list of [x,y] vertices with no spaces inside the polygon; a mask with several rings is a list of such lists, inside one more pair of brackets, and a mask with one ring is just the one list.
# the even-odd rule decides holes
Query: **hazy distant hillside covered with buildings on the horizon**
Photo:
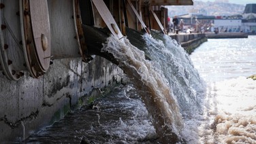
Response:
[{"label": "hazy distant hillside covered with buildings on the horizon", "polygon": [[194,5],[165,7],[168,8],[168,15],[170,17],[180,16],[189,13],[204,14],[206,16],[231,16],[236,14],[242,14],[244,12],[245,5],[211,1],[194,1]]}]

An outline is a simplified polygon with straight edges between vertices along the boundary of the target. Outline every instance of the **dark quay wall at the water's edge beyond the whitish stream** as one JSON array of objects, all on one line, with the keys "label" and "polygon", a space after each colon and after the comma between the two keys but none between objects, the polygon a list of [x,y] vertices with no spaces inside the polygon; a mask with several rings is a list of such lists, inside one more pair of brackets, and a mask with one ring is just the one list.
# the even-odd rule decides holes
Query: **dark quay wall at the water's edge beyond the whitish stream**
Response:
[{"label": "dark quay wall at the water's edge beyond the whitish stream", "polygon": [[170,37],[176,39],[189,54],[208,40],[205,33],[179,33],[172,34]]}]

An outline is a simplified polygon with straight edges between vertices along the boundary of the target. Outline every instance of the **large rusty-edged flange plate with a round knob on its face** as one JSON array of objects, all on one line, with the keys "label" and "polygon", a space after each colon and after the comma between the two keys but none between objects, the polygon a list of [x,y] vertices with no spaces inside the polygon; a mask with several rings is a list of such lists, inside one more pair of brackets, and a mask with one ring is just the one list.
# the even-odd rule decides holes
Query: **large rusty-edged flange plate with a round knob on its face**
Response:
[{"label": "large rusty-edged flange plate with a round knob on its face", "polygon": [[31,77],[44,75],[50,66],[50,20],[47,0],[20,0],[22,43]]}]

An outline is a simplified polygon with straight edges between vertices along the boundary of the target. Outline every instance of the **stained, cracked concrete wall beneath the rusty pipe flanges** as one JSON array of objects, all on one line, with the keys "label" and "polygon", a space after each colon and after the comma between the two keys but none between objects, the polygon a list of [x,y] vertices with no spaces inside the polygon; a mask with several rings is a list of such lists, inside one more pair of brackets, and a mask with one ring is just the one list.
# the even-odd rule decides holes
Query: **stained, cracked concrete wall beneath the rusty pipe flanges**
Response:
[{"label": "stained, cracked concrete wall beneath the rusty pipe flanges", "polygon": [[54,60],[49,71],[39,79],[25,73],[16,82],[1,73],[1,143],[25,139],[60,119],[92,90],[121,82],[122,73],[116,65],[97,56],[89,64],[81,58]]}]

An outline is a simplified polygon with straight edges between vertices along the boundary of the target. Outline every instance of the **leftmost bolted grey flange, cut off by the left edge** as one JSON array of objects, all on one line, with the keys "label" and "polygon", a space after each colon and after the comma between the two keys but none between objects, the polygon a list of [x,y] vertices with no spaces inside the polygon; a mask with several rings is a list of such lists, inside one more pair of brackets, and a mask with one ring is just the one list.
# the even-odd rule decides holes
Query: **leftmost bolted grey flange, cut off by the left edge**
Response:
[{"label": "leftmost bolted grey flange, cut off by the left edge", "polygon": [[8,79],[18,80],[27,70],[24,66],[25,58],[20,45],[19,1],[1,1],[0,4],[0,71],[3,71]]}]

